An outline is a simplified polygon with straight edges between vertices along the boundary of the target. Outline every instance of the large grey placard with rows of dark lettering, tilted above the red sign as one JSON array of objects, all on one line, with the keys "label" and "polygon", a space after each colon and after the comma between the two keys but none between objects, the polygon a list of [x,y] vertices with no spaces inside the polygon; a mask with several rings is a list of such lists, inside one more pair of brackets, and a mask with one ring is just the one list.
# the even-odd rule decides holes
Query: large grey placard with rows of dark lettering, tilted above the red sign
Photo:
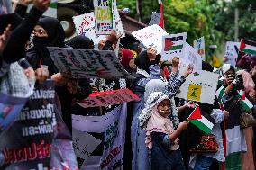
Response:
[{"label": "large grey placard with rows of dark lettering, tilted above the red sign", "polygon": [[112,51],[48,48],[59,72],[73,78],[133,78]]}]

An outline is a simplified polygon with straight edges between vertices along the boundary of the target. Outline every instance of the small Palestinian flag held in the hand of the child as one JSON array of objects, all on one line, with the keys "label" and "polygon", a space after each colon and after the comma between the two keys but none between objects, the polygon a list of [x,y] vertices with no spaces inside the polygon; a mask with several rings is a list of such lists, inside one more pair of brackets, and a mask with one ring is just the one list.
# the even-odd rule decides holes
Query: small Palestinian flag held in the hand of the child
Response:
[{"label": "small Palestinian flag held in the hand of the child", "polygon": [[189,115],[187,121],[194,124],[200,130],[203,130],[206,134],[209,134],[214,127],[214,120],[206,118],[206,114],[203,115],[200,111],[199,105],[197,105],[196,109]]}]

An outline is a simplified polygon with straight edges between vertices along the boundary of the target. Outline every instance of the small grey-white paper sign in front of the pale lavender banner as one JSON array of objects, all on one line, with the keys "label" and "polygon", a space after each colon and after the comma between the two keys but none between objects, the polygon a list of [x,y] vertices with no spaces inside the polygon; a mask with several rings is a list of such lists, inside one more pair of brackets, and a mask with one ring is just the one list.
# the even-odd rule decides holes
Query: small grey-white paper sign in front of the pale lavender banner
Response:
[{"label": "small grey-white paper sign in front of the pale lavender banner", "polygon": [[100,139],[96,139],[87,132],[77,129],[72,129],[72,139],[76,156],[85,161],[87,161],[87,157],[90,157],[91,153],[101,143]]}]

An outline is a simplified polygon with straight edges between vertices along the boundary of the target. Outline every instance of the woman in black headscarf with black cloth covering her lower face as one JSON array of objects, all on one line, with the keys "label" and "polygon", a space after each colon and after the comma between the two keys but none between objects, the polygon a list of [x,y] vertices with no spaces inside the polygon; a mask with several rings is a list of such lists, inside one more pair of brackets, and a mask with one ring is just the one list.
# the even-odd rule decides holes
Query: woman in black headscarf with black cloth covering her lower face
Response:
[{"label": "woman in black headscarf with black cloth covering her lower face", "polygon": [[65,47],[65,31],[60,22],[51,17],[42,18],[35,26],[33,35],[33,47],[27,51],[26,59],[33,69],[46,65],[50,76],[58,73],[59,71],[51,60],[47,47]]}]

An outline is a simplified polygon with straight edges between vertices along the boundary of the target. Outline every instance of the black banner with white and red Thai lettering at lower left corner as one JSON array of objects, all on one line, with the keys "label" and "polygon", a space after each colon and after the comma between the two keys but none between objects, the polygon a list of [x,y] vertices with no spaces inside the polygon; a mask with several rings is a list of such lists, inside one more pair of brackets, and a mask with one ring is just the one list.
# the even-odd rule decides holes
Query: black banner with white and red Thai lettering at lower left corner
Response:
[{"label": "black banner with white and red Thai lettering at lower left corner", "polygon": [[[0,140],[0,169],[78,169],[71,139],[62,132],[65,124],[59,121],[55,103],[53,81],[35,85],[12,126],[0,134],[0,139],[5,139]],[[60,139],[63,135],[64,140]]]}]

